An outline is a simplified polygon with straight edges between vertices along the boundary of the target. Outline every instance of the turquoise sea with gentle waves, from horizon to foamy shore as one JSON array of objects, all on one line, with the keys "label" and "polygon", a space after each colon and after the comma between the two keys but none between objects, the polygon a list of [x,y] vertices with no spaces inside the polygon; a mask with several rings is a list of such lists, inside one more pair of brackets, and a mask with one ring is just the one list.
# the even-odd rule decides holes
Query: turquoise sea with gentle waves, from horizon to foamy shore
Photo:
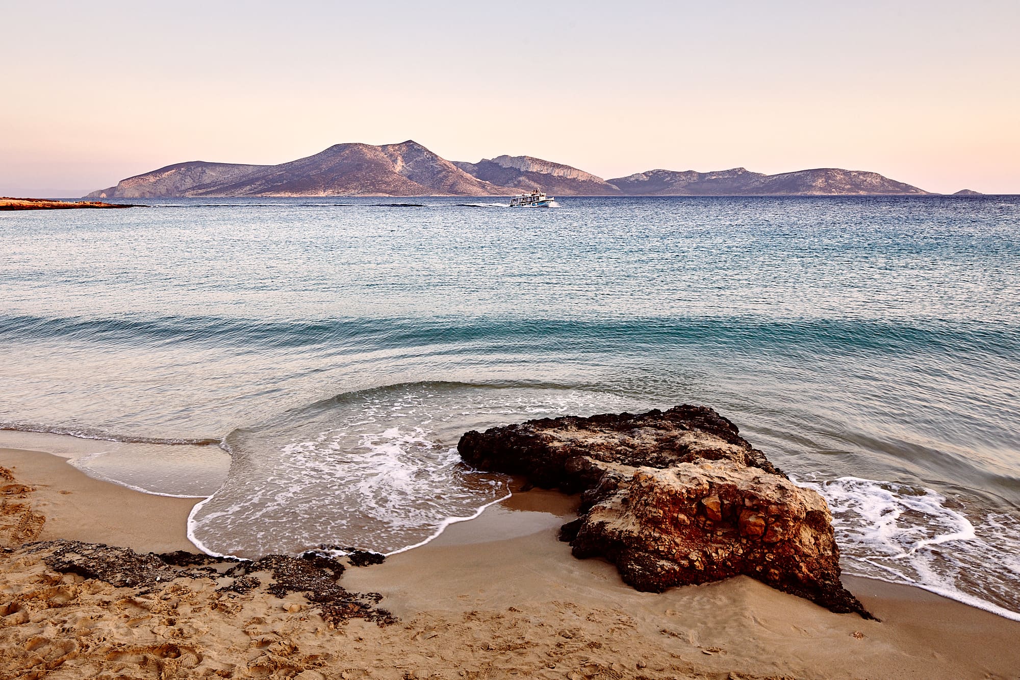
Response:
[{"label": "turquoise sea with gentle waves, from horizon to foamy shore", "polygon": [[209,551],[394,551],[506,494],[466,429],[705,403],[848,572],[1018,616],[1020,199],[411,200],[0,214],[0,422],[221,442]]}]

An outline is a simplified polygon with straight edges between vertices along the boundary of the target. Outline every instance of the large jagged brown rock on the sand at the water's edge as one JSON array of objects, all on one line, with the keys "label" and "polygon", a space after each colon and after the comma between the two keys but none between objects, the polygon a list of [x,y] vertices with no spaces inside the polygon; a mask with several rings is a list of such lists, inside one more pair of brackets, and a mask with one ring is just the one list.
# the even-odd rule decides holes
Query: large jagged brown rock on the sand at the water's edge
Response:
[{"label": "large jagged brown rock on the sand at the water's edge", "polygon": [[839,581],[832,517],[731,422],[705,406],[565,417],[468,432],[481,470],[581,492],[563,527],[577,557],[603,556],[639,590],[746,574],[833,612],[870,617]]}]

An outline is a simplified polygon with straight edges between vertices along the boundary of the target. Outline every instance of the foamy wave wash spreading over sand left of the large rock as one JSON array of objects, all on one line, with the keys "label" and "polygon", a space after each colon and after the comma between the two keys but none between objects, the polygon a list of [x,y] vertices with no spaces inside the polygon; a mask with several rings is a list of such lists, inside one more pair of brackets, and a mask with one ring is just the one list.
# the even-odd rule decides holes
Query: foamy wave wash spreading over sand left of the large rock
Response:
[{"label": "foamy wave wash spreading over sand left of the large rock", "polygon": [[505,475],[470,470],[445,442],[479,424],[616,400],[573,390],[451,391],[421,383],[354,393],[279,426],[228,437],[231,475],[196,505],[189,537],[210,554],[296,553],[325,544],[403,552],[510,496]]}]

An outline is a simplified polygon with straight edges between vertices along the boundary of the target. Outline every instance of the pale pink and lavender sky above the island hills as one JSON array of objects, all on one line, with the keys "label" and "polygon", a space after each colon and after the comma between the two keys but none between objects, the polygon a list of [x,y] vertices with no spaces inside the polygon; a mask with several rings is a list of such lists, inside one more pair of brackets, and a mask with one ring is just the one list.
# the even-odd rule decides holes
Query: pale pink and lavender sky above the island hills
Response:
[{"label": "pale pink and lavender sky above the island hills", "polygon": [[[0,195],[413,139],[1020,193],[1020,2],[3,2]],[[69,192],[69,193],[68,193]]]}]

